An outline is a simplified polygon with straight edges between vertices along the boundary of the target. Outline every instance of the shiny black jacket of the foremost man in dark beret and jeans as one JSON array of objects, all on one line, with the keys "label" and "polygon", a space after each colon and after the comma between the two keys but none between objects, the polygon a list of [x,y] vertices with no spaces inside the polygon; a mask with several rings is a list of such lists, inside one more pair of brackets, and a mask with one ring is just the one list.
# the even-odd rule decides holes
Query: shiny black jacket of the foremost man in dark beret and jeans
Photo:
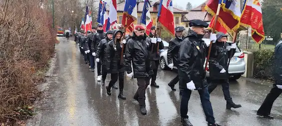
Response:
[{"label": "shiny black jacket of the foremost man in dark beret and jeans", "polygon": [[207,56],[207,45],[194,31],[188,31],[188,36],[183,40],[179,50],[178,75],[184,81],[180,88],[186,89],[186,83],[193,80],[196,89],[207,86],[206,72],[204,70]]}]

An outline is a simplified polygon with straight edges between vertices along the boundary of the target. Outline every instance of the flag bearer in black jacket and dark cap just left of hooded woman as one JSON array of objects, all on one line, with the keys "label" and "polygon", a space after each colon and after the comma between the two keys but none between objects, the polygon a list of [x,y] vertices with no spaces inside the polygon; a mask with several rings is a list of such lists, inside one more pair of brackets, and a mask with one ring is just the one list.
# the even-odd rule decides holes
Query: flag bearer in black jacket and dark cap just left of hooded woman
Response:
[{"label": "flag bearer in black jacket and dark cap just left of hooded woman", "polygon": [[96,62],[97,63],[101,63],[102,64],[102,85],[105,85],[105,80],[107,77],[107,65],[106,63],[110,63],[107,62],[107,58],[108,58],[108,54],[107,54],[107,49],[109,46],[109,41],[111,41],[113,39],[113,31],[109,30],[107,31],[107,37],[105,39],[102,39],[101,42],[98,45],[97,48],[97,56],[96,56]]}]

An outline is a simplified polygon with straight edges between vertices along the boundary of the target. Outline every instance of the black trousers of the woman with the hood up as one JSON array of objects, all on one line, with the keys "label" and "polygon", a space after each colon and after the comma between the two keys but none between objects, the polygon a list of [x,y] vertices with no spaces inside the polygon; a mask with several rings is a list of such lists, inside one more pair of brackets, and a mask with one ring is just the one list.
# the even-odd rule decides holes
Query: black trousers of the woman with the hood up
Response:
[{"label": "black trousers of the woman with the hood up", "polygon": [[119,91],[123,91],[124,72],[111,73],[111,81],[109,83],[109,87],[112,87],[117,79],[119,79]]}]

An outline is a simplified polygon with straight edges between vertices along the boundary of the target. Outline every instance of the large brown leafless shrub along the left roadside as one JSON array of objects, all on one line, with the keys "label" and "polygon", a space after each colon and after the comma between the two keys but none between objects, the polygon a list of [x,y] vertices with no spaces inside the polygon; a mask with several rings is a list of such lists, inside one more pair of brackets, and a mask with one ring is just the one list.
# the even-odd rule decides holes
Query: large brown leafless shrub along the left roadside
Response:
[{"label": "large brown leafless shrub along the left roadside", "polygon": [[0,1],[0,123],[21,120],[19,109],[39,94],[36,83],[54,53],[56,32],[43,0]]}]

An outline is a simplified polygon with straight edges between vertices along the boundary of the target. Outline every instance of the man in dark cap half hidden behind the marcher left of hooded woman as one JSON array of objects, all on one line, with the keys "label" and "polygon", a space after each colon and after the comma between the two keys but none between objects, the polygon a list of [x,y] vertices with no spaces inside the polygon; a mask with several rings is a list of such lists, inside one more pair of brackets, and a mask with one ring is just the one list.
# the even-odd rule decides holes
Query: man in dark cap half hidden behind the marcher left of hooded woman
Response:
[{"label": "man in dark cap half hidden behind the marcher left of hooded woman", "polygon": [[[98,24],[97,35],[99,35],[100,40],[102,40],[106,37],[106,34],[103,31],[103,24],[100,24],[100,23]],[[100,42],[101,41],[97,42],[97,47],[100,44]],[[101,81],[101,66],[102,66],[101,62],[97,62],[97,73],[98,73],[97,81]]]}]

